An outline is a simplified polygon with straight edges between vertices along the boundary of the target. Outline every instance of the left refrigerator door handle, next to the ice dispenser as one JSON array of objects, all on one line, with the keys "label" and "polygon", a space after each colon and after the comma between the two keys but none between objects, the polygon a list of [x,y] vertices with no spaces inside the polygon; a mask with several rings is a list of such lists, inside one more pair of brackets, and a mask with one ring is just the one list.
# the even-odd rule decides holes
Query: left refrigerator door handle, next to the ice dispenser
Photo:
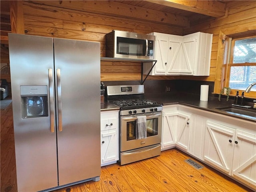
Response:
[{"label": "left refrigerator door handle, next to the ice dispenser", "polygon": [[54,95],[53,95],[53,78],[52,78],[52,69],[48,69],[48,78],[49,78],[49,98],[50,98],[50,129],[51,132],[54,132]]}]

